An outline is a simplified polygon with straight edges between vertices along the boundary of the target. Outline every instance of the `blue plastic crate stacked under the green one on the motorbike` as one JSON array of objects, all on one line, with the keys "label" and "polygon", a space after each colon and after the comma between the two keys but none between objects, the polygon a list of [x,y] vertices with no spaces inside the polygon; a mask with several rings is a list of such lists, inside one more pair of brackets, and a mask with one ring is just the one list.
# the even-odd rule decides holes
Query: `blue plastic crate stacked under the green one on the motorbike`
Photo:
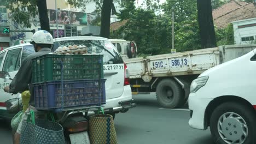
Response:
[{"label": "blue plastic crate stacked under the green one on the motorbike", "polygon": [[[34,104],[38,110],[63,109],[106,104],[106,79],[67,80],[34,83]],[[100,87],[101,86],[101,87]]]}]

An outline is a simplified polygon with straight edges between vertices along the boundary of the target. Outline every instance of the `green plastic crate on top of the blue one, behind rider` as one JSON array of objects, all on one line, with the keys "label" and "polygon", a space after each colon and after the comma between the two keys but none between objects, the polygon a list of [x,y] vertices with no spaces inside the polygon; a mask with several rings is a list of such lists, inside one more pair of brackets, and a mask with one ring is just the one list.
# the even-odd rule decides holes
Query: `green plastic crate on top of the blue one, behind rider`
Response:
[{"label": "green plastic crate on top of the blue one, behind rider", "polygon": [[[63,67],[63,69],[61,69]],[[103,55],[43,55],[32,59],[32,82],[103,79]]]}]

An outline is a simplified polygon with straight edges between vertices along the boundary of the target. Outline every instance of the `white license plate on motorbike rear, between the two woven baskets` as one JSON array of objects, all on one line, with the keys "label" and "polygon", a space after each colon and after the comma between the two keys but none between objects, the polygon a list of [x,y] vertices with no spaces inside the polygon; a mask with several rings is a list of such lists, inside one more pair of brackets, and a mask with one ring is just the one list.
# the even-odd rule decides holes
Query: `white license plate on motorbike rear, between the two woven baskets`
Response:
[{"label": "white license plate on motorbike rear, between the two woven baskets", "polygon": [[71,144],[90,144],[90,139],[87,131],[69,135]]}]

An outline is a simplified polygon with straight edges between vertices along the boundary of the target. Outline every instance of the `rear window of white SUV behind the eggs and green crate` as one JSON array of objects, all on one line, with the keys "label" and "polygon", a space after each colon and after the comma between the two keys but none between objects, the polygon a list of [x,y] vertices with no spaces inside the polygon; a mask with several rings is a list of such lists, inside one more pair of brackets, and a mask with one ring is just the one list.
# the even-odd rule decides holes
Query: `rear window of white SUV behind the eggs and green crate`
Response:
[{"label": "rear window of white SUV behind the eggs and green crate", "polygon": [[123,59],[120,57],[119,53],[115,50],[112,43],[106,40],[63,40],[56,41],[54,43],[53,51],[58,47],[68,47],[68,46],[86,46],[88,53],[90,54],[102,54],[104,64],[117,64],[123,63]]}]

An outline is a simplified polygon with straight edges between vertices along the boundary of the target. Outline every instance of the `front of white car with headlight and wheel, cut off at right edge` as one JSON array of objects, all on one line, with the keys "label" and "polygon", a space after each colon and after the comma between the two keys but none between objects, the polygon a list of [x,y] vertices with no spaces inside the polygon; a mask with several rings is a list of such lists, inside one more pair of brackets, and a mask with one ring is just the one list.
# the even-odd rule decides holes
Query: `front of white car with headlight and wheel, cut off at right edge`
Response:
[{"label": "front of white car with headlight and wheel, cut off at right edge", "polygon": [[211,128],[217,143],[256,143],[256,49],[217,65],[191,83],[192,128]]}]

